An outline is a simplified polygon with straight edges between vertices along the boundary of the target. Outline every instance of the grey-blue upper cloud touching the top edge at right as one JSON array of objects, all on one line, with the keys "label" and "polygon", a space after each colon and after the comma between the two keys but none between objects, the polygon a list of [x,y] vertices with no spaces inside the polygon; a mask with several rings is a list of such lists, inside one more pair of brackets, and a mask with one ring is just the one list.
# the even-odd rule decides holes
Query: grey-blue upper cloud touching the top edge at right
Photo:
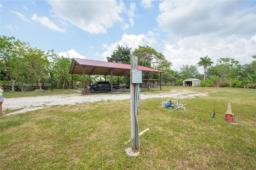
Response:
[{"label": "grey-blue upper cloud touching the top edge at right", "polygon": [[[156,21],[170,36],[188,37],[208,33],[219,36],[255,33],[255,6],[244,1],[163,1]],[[250,22],[251,21],[251,22]]]}]

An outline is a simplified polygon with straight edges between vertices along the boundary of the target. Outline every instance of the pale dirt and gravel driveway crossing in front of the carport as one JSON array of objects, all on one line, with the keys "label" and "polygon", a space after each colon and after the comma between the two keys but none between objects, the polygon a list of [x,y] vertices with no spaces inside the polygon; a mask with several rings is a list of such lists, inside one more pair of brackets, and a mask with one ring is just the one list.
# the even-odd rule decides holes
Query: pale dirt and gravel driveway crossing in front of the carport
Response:
[{"label": "pale dirt and gravel driveway crossing in front of the carport", "polygon": [[[194,98],[196,96],[206,96],[208,92],[198,92],[194,90],[173,90],[170,92],[159,94],[141,94],[141,100],[148,98],[163,98],[163,101],[170,98],[181,100],[184,98]],[[17,113],[25,113],[55,105],[75,105],[76,103],[98,102],[106,100],[129,100],[130,92],[117,91],[113,94],[95,93],[92,95],[81,95],[80,91],[77,94],[54,95],[54,96],[38,96],[24,98],[7,98],[4,99],[3,110],[5,109],[20,109],[6,115]]]}]

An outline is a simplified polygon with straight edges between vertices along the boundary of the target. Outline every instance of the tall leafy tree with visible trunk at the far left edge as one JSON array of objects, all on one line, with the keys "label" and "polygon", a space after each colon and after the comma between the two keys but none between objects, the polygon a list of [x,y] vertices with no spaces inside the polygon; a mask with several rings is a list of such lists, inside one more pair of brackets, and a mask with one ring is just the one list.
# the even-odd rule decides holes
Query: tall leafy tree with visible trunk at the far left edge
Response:
[{"label": "tall leafy tree with visible trunk at the far left edge", "polygon": [[10,77],[12,92],[15,92],[15,83],[21,72],[26,70],[24,63],[24,49],[27,43],[17,40],[15,37],[0,35],[0,70]]}]

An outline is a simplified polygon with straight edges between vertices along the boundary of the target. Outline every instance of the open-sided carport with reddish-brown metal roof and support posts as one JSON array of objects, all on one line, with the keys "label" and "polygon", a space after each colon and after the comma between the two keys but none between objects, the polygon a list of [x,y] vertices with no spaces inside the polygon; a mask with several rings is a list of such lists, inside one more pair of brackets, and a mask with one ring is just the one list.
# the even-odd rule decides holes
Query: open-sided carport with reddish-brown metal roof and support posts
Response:
[{"label": "open-sided carport with reddish-brown metal roof and support posts", "polygon": [[[130,70],[131,70],[130,64],[110,63],[106,61],[73,58],[70,66],[69,74],[72,74],[72,82],[73,82],[73,74],[83,74],[84,90],[85,90],[86,74],[111,76],[111,86],[112,86],[113,84],[112,76],[129,76],[130,77]],[[149,72],[159,72],[160,73],[160,90],[162,90],[161,73],[163,71],[155,70],[153,68],[148,68],[145,66],[138,66],[138,70],[148,72],[148,80],[149,80]],[[73,83],[72,83],[72,88],[73,88]],[[111,88],[111,92],[112,92],[112,88]]]}]

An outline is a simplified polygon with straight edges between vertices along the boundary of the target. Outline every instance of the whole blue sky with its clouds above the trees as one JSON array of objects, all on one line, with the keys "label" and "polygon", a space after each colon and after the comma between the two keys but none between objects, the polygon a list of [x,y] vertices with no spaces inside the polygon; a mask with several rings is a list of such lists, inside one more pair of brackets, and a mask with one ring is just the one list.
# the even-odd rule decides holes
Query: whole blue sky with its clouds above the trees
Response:
[{"label": "whole blue sky with its clouds above the trees", "polygon": [[179,70],[256,53],[255,0],[1,0],[0,10],[0,35],[69,58],[106,61],[117,44],[148,45]]}]

